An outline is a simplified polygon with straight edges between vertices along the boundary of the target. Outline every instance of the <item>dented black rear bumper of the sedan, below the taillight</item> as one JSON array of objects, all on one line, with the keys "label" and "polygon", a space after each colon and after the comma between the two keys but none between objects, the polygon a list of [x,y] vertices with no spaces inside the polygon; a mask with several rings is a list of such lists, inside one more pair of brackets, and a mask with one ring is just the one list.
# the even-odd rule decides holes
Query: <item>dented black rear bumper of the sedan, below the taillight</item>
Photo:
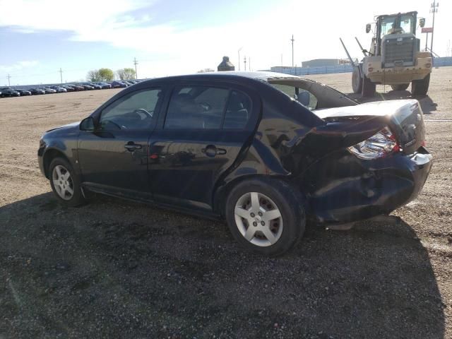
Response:
[{"label": "dented black rear bumper of the sedan, below the taillight", "polygon": [[391,213],[416,198],[432,167],[432,155],[359,160],[347,152],[323,158],[305,173],[307,214],[316,222],[344,223]]}]

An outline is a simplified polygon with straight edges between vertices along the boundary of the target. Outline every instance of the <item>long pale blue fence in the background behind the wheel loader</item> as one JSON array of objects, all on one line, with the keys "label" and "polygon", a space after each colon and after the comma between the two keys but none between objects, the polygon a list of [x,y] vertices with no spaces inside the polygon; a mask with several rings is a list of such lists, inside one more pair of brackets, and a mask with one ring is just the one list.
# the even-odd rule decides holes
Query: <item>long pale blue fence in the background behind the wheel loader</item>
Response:
[{"label": "long pale blue fence in the background behind the wheel loader", "polygon": [[[452,66],[452,57],[433,59],[434,67]],[[352,65],[321,66],[321,67],[283,67],[271,68],[272,72],[290,74],[292,76],[306,76],[308,74],[347,73],[353,71]]]}]

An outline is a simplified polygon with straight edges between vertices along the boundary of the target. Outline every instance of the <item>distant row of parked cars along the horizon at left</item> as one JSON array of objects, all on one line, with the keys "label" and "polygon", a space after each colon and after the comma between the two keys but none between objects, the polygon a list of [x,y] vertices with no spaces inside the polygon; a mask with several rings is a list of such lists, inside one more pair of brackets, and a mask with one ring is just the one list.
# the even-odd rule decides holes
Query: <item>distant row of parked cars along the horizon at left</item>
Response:
[{"label": "distant row of parked cars along the horizon at left", "polygon": [[0,88],[0,97],[20,97],[24,95],[40,95],[51,93],[78,92],[80,90],[105,90],[108,88],[126,88],[141,80],[112,81],[111,83],[77,83],[70,85],[44,86],[27,89]]}]

